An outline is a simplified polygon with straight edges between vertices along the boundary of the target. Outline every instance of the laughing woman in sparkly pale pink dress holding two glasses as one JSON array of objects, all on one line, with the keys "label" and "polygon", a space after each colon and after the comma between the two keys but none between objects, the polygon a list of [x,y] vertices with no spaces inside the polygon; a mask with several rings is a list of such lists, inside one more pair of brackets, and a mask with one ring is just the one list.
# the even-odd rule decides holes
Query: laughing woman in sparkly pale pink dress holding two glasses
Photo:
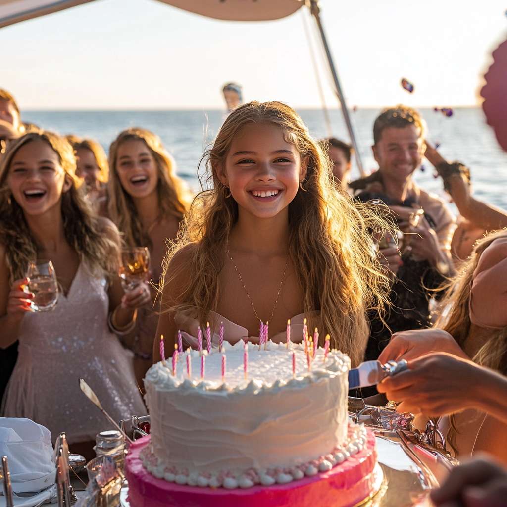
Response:
[{"label": "laughing woman in sparkly pale pink dress holding two glasses", "polygon": [[[115,420],[146,413],[112,331],[133,325],[150,292],[142,284],[123,293],[118,231],[93,216],[80,184],[73,149],[51,132],[20,137],[2,160],[0,347],[19,340],[2,415],[32,419],[53,439],[65,431],[90,455],[105,421],[81,393],[80,378]],[[34,312],[25,274],[42,259],[53,263],[60,295],[52,311]]]}]

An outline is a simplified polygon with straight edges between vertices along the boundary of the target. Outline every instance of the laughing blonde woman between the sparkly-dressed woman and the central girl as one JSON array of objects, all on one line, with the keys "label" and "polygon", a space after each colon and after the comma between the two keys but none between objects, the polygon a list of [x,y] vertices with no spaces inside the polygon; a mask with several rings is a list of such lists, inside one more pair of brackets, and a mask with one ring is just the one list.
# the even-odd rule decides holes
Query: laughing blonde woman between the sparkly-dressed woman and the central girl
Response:
[{"label": "laughing blonde woman between the sparkly-dressed woman and the central girl", "polygon": [[[111,144],[110,179],[102,213],[118,227],[127,246],[147,246],[151,256],[151,279],[162,275],[166,242],[176,238],[179,224],[191,202],[191,194],[175,174],[175,162],[160,138],[149,130],[131,127]],[[122,338],[134,353],[139,385],[152,365],[153,342],[158,324],[157,291],[140,308],[136,327]]]}]

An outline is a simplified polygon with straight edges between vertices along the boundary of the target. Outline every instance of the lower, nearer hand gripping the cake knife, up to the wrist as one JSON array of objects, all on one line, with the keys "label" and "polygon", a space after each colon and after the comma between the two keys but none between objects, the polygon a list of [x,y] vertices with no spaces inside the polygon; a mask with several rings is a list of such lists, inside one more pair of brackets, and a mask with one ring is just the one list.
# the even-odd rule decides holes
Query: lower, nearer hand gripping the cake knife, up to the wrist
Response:
[{"label": "lower, nearer hand gripping the cake knife, up to the wrist", "polygon": [[481,387],[488,384],[481,367],[444,352],[423,355],[409,361],[408,367],[377,384],[377,390],[388,400],[402,402],[397,412],[453,414],[476,406]]}]

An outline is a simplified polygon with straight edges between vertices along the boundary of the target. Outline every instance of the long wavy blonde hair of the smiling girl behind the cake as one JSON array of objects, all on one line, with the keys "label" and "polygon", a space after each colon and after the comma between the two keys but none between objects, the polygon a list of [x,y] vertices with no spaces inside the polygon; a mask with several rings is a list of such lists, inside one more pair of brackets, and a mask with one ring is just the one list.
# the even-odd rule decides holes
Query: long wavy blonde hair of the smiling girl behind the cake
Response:
[{"label": "long wavy blonde hair of the smiling girl behind the cake", "polygon": [[389,290],[389,280],[372,253],[371,231],[390,225],[374,206],[354,203],[335,185],[328,156],[301,118],[281,102],[253,101],[237,107],[203,155],[207,186],[213,187],[195,198],[166,257],[163,283],[170,284],[178,274],[167,272],[169,261],[180,248],[194,243],[187,289],[177,307],[164,311],[193,309],[201,322],[211,321],[209,312],[216,311],[221,294],[219,274],[227,258],[229,234],[238,219],[238,205],[226,194],[217,172],[226,163],[233,138],[260,123],[278,126],[301,159],[309,161],[304,190],[298,190],[288,206],[289,256],[304,294],[310,329],[319,329],[321,341],[329,333],[332,347],[347,353],[357,365],[369,335],[366,312],[384,308]]}]

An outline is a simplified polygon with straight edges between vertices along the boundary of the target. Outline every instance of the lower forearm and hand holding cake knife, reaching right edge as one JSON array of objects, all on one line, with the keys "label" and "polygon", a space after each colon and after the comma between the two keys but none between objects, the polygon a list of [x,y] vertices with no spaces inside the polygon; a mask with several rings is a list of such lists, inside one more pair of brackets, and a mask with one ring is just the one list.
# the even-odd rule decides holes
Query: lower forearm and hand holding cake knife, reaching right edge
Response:
[{"label": "lower forearm and hand holding cake knife, reaching right edge", "polygon": [[402,402],[398,412],[444,416],[475,408],[507,423],[507,378],[451,354],[409,361],[409,370],[385,378],[377,389]]}]

